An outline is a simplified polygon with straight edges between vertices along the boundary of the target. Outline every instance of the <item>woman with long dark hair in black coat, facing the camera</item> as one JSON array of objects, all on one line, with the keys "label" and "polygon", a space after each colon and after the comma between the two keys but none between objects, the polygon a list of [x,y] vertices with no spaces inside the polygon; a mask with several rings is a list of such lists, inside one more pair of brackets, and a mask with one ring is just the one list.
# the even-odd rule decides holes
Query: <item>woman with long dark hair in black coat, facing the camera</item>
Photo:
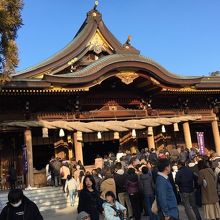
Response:
[{"label": "woman with long dark hair in black coat, facing the camera", "polygon": [[90,215],[91,220],[99,220],[99,213],[103,211],[102,203],[93,176],[86,175],[79,194],[78,213],[84,211]]}]

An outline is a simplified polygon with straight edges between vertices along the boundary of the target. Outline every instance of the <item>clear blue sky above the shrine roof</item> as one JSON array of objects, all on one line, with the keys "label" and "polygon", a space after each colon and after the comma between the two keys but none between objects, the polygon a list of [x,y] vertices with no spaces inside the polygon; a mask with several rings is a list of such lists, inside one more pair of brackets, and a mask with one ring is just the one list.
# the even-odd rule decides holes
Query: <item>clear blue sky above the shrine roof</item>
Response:
[{"label": "clear blue sky above the shrine roof", "polygon": [[[18,32],[23,70],[66,46],[83,23],[93,0],[24,0]],[[220,0],[100,0],[110,31],[179,75],[220,70]]]}]

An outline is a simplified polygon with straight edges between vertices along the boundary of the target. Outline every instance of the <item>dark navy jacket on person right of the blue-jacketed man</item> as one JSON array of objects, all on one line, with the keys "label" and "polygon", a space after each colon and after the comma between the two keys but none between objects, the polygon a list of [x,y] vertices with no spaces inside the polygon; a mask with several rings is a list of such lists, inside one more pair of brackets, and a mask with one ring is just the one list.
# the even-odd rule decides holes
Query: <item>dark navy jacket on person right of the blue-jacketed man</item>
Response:
[{"label": "dark navy jacket on person right of the blue-jacketed man", "polygon": [[194,175],[188,167],[181,167],[176,173],[176,184],[181,193],[191,193],[194,190]]}]

